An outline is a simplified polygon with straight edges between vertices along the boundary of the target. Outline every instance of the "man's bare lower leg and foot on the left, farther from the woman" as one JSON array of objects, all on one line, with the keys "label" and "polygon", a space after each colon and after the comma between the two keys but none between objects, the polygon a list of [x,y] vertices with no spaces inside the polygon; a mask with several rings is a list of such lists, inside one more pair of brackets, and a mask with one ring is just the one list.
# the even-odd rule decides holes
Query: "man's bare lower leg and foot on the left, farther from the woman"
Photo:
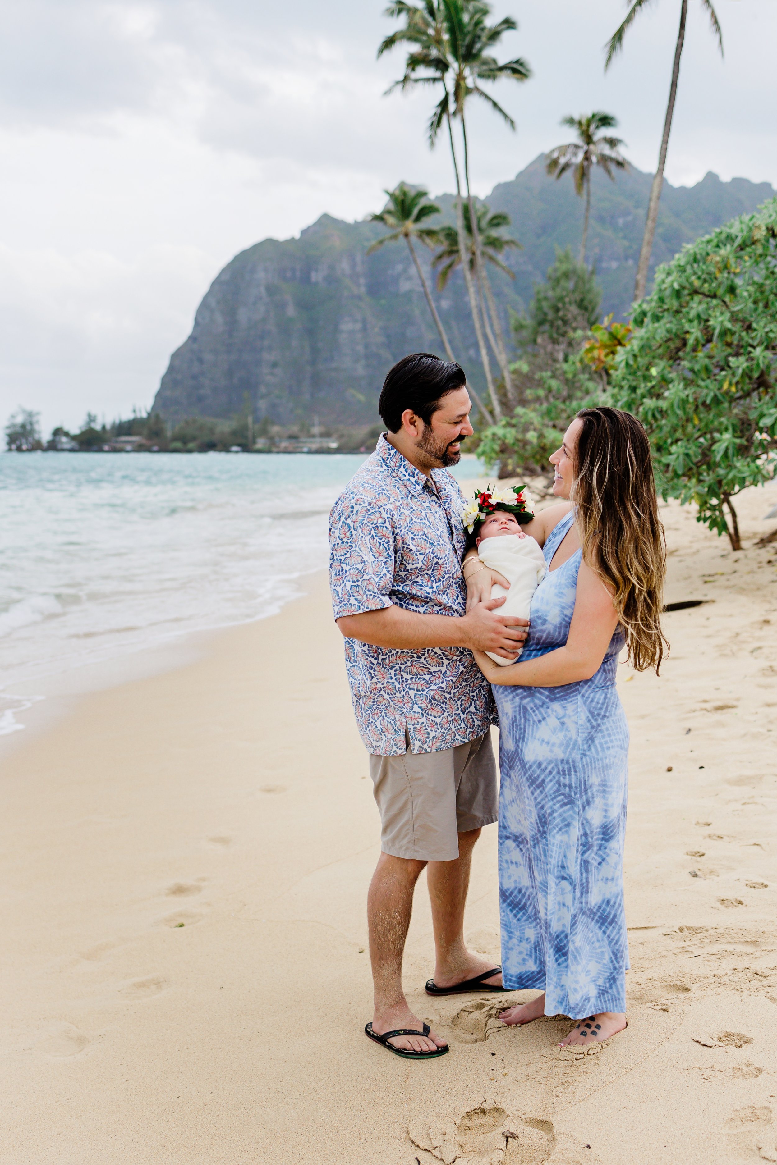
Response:
[{"label": "man's bare lower leg and foot on the left, farther from the woman", "polygon": [[[375,988],[373,1031],[377,1036],[397,1028],[423,1029],[402,990],[402,955],[412,913],[412,894],[426,862],[381,854],[367,895],[369,959]],[[397,1036],[394,1047],[403,1051],[433,1052],[446,1040],[433,1032],[425,1036]]]}]

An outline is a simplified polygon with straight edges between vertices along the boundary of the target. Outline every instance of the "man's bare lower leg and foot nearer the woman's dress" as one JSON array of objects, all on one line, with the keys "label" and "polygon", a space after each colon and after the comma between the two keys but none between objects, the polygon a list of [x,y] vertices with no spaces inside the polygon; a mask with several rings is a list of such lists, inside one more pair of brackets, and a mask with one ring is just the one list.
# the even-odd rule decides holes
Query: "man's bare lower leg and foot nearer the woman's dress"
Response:
[{"label": "man's bare lower leg and foot nearer the woman's dress", "polygon": [[[480,955],[469,954],[464,945],[464,908],[469,889],[472,850],[480,829],[459,834],[459,856],[452,862],[429,862],[426,884],[432,904],[435,926],[435,982],[438,987],[454,987],[494,966]],[[486,983],[502,986],[502,976],[494,975]]]}]

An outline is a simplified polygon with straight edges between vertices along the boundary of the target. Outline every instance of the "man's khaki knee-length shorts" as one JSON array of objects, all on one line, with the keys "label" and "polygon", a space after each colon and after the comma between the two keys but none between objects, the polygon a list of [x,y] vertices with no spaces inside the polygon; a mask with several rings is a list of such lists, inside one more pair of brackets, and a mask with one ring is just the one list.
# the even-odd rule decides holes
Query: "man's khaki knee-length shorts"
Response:
[{"label": "man's khaki knee-length shorts", "polygon": [[439,753],[369,757],[381,814],[381,849],[394,857],[450,862],[459,833],[499,817],[490,733]]}]

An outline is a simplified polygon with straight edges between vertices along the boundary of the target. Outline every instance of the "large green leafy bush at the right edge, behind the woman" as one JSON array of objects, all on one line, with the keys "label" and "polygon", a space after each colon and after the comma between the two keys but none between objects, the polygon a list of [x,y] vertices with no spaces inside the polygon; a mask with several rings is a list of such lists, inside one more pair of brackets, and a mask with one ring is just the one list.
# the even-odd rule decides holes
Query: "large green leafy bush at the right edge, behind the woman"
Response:
[{"label": "large green leafy bush at the right edge, behind the woman", "polygon": [[644,423],[661,493],[740,550],[732,499],[774,474],[777,446],[777,199],[659,267],[633,324],[613,403]]}]

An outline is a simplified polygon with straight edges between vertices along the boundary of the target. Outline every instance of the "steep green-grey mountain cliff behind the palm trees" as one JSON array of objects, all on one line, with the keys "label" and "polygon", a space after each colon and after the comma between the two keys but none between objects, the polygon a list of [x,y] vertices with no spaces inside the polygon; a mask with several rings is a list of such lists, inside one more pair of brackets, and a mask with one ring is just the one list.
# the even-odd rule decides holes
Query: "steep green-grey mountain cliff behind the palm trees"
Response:
[{"label": "steep green-grey mountain cliff behind the palm trees", "polygon": [[[650,175],[635,169],[614,183],[594,175],[587,257],[602,287],[602,313],[617,318],[629,311],[650,183]],[[714,174],[690,188],[664,183],[652,269],[774,193],[767,182],[721,182]],[[510,309],[527,308],[556,247],[577,253],[582,200],[568,177],[548,177],[542,156],[486,200],[507,211],[523,248],[507,259],[513,280],[490,269],[507,331]],[[451,196],[435,202],[444,212],[439,221],[452,221]],[[323,214],[298,239],[264,239],[235,255],[200,303],[191,336],[172,353],[153,410],[171,422],[231,417],[246,408],[256,421],[290,426],[315,417],[324,424],[376,419],[390,365],[408,352],[442,348],[404,242],[366,255],[382,233],[375,224]],[[419,250],[432,283],[431,255]],[[453,351],[482,389],[461,273],[435,296]]]}]

